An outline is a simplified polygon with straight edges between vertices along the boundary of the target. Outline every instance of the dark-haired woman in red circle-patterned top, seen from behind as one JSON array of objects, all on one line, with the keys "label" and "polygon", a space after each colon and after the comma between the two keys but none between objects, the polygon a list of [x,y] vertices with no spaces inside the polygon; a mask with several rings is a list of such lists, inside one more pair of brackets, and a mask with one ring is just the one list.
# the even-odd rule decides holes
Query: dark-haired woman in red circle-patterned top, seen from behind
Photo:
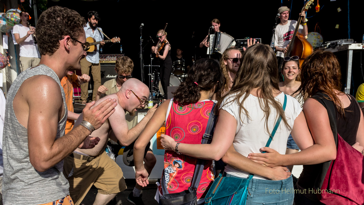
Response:
[{"label": "dark-haired woman in red circle-patterned top, seen from behind", "polygon": [[[135,178],[137,183],[146,186],[148,173],[143,166],[143,150],[153,135],[166,123],[166,133],[180,143],[199,144],[205,134],[207,121],[214,101],[210,100],[214,93],[221,94],[223,77],[219,63],[213,59],[199,59],[191,67],[188,77],[177,88],[174,98],[163,102],[155,111],[134,145]],[[191,186],[197,159],[174,151],[166,151],[164,158],[164,174],[169,193],[178,193]],[[198,204],[205,202],[203,198],[207,187],[213,182],[212,160],[206,160],[202,178],[197,188]],[[156,200],[162,195],[158,187]]]}]

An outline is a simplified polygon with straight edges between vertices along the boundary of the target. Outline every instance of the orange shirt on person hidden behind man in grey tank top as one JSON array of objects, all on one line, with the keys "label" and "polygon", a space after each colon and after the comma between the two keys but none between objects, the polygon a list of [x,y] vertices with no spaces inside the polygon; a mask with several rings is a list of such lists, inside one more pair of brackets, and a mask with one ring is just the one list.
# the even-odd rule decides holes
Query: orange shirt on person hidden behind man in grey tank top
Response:
[{"label": "orange shirt on person hidden behind man in grey tank top", "polygon": [[[66,95],[66,104],[67,104],[67,109],[71,112],[73,112],[73,86],[74,85],[78,85],[77,82],[77,75],[75,73],[73,73],[71,76],[64,76],[61,80],[61,85],[63,87],[64,90],[64,94]],[[75,124],[75,120],[71,120],[71,119],[67,119],[66,122],[66,130],[64,132],[64,134],[67,134],[68,132],[71,131],[73,125]]]}]

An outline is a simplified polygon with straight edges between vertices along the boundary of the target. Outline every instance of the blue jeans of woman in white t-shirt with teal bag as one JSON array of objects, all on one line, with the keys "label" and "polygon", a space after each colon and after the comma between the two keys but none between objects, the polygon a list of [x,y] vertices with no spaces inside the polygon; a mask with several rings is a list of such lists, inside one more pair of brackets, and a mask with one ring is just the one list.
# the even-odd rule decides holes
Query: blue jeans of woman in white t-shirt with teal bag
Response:
[{"label": "blue jeans of woman in white t-shirt with teal bag", "polygon": [[[226,174],[226,177],[236,177]],[[236,177],[239,178],[239,177]],[[246,205],[292,205],[294,189],[292,176],[280,181],[252,179]]]}]

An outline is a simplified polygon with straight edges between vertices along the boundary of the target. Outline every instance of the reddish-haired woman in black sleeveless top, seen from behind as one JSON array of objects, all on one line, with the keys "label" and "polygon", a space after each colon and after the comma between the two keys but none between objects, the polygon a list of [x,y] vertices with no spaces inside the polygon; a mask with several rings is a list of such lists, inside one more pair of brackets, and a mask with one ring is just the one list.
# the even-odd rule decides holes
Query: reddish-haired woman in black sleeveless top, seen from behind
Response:
[{"label": "reddish-haired woman in black sleeveless top, seen from behind", "polygon": [[[336,159],[334,135],[340,134],[349,145],[363,154],[364,119],[355,98],[340,91],[340,63],[333,53],[314,51],[302,63],[300,77],[301,86],[296,92],[306,98],[303,112],[314,145],[289,155],[280,155],[275,150],[264,147],[263,150],[268,153],[249,154],[249,158],[270,167],[304,165],[296,183],[294,202],[300,205],[316,205],[322,203],[316,193],[308,190],[321,188],[318,185],[322,181],[321,173],[325,174],[327,171],[323,162]],[[331,119],[329,117],[329,113],[332,113],[327,108],[329,103],[335,107],[336,122],[335,116]]]}]

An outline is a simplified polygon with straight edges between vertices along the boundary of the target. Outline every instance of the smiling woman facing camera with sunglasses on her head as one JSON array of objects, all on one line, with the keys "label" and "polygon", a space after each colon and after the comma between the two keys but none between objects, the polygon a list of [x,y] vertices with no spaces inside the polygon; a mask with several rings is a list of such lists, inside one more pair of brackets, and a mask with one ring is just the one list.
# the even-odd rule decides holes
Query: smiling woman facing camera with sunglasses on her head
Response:
[{"label": "smiling woman facing camera with sunglasses on her head", "polygon": [[[283,81],[279,82],[278,86],[282,92],[296,98],[302,107],[303,97],[299,93],[294,93],[301,86],[301,82],[297,81],[298,74],[300,73],[300,62],[298,59],[300,59],[298,56],[284,57],[281,71]],[[292,135],[289,135],[286,154],[297,153],[299,150],[300,148],[294,142]],[[292,172],[293,165],[287,167]]]}]

